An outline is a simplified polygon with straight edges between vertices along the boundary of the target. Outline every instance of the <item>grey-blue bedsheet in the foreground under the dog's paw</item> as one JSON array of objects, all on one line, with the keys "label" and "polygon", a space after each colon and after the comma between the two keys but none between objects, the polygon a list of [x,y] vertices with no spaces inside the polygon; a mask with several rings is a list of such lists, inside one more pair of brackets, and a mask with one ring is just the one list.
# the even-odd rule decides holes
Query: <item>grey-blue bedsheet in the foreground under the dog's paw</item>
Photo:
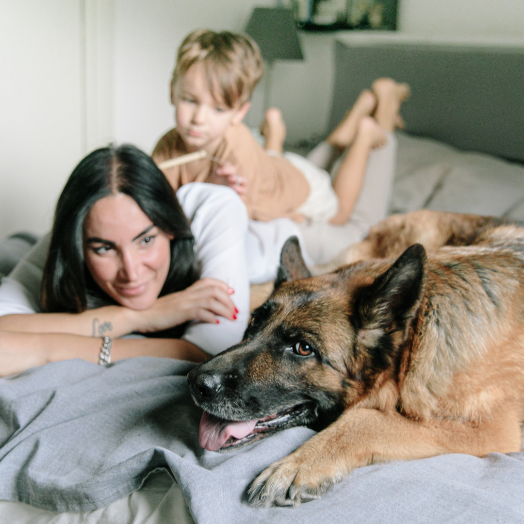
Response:
[{"label": "grey-blue bedsheet in the foreground under the dog's paw", "polygon": [[[445,455],[359,468],[322,499],[254,509],[249,482],[313,432],[226,453],[198,445],[191,364],[73,360],[0,380],[0,498],[52,510],[107,505],[165,468],[196,522],[522,522],[524,454]],[[348,443],[351,445],[351,442]]]}]

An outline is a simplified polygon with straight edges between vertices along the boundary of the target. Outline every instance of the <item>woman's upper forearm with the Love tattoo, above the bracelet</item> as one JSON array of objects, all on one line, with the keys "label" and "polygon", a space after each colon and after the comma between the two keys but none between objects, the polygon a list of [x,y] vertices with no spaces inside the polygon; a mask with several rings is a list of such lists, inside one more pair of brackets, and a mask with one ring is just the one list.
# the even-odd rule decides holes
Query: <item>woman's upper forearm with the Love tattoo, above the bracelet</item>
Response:
[{"label": "woman's upper forearm with the Love tattoo, above the bracelet", "polygon": [[137,312],[118,305],[82,313],[35,313],[0,316],[0,330],[118,337],[139,331]]}]

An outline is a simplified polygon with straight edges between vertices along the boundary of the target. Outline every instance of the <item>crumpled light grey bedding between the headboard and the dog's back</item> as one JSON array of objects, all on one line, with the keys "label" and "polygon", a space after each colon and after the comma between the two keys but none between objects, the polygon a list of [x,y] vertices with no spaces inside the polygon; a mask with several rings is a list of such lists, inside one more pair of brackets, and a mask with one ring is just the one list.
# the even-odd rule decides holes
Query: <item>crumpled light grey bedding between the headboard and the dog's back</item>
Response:
[{"label": "crumpled light grey bedding between the headboard and the dog's back", "polygon": [[433,209],[524,220],[524,166],[397,133],[390,212]]}]

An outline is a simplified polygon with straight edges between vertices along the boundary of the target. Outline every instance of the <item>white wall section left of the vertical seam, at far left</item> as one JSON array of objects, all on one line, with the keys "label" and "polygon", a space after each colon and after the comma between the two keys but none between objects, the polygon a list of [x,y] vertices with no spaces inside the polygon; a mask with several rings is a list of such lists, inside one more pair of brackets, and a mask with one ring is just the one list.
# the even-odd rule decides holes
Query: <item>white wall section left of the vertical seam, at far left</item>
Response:
[{"label": "white wall section left of the vertical seam, at far left", "polygon": [[2,3],[0,236],[45,232],[80,156],[79,8],[72,0]]}]

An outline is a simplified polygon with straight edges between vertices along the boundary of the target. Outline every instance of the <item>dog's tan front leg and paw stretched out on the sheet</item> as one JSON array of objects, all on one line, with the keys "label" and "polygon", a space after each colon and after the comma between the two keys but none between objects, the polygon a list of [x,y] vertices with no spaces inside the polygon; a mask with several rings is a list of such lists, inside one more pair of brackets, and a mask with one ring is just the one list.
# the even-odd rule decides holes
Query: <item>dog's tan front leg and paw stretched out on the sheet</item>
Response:
[{"label": "dog's tan front leg and paw stretched out on the sheet", "polygon": [[457,421],[418,422],[397,412],[348,409],[328,428],[269,466],[248,489],[256,506],[292,506],[320,497],[353,468],[442,453],[477,456],[520,451],[516,411],[477,427]]}]

